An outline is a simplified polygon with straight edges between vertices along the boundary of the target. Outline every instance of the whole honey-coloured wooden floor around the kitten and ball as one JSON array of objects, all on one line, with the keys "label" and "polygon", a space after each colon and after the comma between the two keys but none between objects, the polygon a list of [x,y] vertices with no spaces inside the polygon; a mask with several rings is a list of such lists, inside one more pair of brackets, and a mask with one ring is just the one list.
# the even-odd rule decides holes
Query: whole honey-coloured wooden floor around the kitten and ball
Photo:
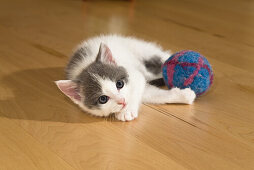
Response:
[{"label": "whole honey-coloured wooden floor around the kitten and ball", "polygon": [[[81,40],[121,33],[207,56],[193,105],[96,118],[53,81]],[[254,2],[1,0],[0,169],[254,169]]]}]

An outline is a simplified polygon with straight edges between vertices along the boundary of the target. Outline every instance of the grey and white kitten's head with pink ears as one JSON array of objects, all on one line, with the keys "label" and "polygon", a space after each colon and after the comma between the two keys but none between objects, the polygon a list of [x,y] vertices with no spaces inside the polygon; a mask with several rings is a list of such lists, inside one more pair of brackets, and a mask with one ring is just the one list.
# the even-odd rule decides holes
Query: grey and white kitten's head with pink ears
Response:
[{"label": "grey and white kitten's head with pink ears", "polygon": [[105,44],[76,80],[59,80],[56,84],[74,103],[96,116],[120,112],[128,104],[128,74],[117,66]]}]

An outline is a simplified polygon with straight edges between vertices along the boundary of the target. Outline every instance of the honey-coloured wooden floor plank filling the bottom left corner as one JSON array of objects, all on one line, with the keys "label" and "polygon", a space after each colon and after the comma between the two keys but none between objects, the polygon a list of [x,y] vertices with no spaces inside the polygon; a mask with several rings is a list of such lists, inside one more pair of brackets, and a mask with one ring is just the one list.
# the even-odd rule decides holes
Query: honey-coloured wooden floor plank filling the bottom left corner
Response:
[{"label": "honey-coloured wooden floor plank filling the bottom left corner", "polygon": [[16,125],[0,118],[0,169],[73,169]]}]

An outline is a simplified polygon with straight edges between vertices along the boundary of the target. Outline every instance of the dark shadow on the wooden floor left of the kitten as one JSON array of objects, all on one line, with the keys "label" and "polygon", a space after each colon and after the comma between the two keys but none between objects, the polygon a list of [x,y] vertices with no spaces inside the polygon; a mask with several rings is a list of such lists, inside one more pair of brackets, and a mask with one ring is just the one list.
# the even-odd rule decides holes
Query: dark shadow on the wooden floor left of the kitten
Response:
[{"label": "dark shadow on the wooden floor left of the kitten", "polygon": [[[4,100],[0,99],[0,116],[11,119],[92,123],[105,121],[81,111],[54,84],[64,77],[64,68],[22,70],[0,80]],[[115,121],[112,117],[107,120]]]}]

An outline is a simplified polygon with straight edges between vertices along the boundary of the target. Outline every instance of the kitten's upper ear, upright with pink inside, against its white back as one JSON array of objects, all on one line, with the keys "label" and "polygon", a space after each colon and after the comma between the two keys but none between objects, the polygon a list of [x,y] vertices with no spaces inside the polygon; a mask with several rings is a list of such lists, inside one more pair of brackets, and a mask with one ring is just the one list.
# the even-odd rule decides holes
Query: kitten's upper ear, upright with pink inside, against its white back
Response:
[{"label": "kitten's upper ear, upright with pink inside, against its white back", "polygon": [[101,43],[99,53],[97,55],[96,61],[100,61],[107,64],[116,64],[112,53],[108,46],[104,43]]}]

